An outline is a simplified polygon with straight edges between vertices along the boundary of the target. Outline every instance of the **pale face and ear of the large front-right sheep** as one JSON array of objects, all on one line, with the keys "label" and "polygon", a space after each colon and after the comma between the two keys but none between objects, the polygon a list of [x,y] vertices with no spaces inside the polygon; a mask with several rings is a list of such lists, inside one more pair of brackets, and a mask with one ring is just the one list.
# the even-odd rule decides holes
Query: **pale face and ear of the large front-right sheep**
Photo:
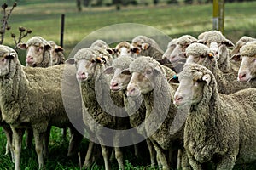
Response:
[{"label": "pale face and ear of the large front-right sheep", "polygon": [[196,105],[203,96],[203,88],[209,81],[209,76],[201,74],[191,77],[178,77],[179,86],[174,95],[174,105]]}]

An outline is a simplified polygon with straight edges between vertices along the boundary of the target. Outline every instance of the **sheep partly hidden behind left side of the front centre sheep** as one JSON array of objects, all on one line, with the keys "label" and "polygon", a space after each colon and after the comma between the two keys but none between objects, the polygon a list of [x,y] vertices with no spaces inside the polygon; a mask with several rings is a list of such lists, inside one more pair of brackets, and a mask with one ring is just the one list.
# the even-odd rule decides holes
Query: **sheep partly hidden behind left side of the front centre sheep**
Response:
[{"label": "sheep partly hidden behind left side of the front centre sheep", "polygon": [[[104,73],[113,73],[113,78],[110,81],[110,89],[113,91],[122,91],[122,94],[124,96],[125,111],[129,115],[131,127],[137,128],[137,132],[139,134],[147,137],[145,129],[143,127],[139,127],[139,125],[143,123],[146,113],[146,108],[145,105],[143,105],[143,101],[141,100],[141,98],[130,99],[126,96],[126,88],[131,79],[131,73],[128,69],[131,61],[133,60],[134,58],[130,56],[122,56],[114,59],[113,64],[109,66],[104,71]],[[151,166],[154,167],[156,153],[150,139],[146,139],[146,142],[148,144]],[[136,147],[135,151],[137,152]]]}]

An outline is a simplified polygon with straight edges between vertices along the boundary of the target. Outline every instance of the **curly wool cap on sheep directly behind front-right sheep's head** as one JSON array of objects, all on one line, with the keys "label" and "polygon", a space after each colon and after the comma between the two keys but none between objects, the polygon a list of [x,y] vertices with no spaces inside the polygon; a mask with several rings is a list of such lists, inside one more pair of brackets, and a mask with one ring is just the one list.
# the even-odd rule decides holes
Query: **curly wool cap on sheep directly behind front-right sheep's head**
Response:
[{"label": "curly wool cap on sheep directly behind front-right sheep's head", "polygon": [[193,56],[207,56],[210,49],[201,43],[192,43],[189,45],[188,48],[186,48],[186,55],[193,55]]}]

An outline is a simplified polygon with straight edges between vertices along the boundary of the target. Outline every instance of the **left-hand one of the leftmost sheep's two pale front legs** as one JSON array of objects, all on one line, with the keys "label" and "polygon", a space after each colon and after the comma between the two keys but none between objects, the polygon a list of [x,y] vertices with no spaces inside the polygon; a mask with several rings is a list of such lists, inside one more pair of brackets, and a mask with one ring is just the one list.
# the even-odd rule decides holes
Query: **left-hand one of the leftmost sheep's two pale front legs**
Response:
[{"label": "left-hand one of the leftmost sheep's two pale front legs", "polygon": [[20,170],[20,153],[23,132],[21,129],[12,126],[11,129],[13,131],[13,138],[15,143],[15,170]]}]

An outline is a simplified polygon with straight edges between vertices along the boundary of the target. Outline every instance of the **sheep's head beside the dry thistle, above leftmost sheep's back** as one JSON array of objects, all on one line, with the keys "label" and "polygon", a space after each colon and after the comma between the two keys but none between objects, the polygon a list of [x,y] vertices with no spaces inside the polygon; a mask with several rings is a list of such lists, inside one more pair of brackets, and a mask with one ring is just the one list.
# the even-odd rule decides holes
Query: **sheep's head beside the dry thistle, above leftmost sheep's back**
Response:
[{"label": "sheep's head beside the dry thistle, above leftmost sheep's back", "polygon": [[26,66],[49,67],[52,65],[51,46],[43,37],[32,37],[27,42],[17,44],[26,50]]}]

